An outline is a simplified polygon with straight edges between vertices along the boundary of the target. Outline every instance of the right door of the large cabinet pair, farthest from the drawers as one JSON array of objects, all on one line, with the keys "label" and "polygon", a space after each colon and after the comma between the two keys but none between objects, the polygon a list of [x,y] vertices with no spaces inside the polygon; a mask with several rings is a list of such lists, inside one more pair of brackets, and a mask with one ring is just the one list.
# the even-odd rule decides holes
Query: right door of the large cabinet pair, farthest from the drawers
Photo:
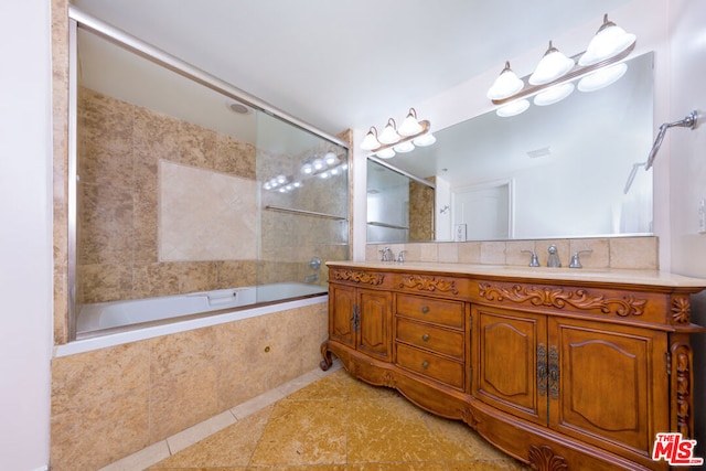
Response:
[{"label": "right door of the large cabinet pair, farthest from the drawers", "polygon": [[549,320],[548,333],[558,353],[550,426],[649,457],[670,430],[666,333],[567,319]]}]

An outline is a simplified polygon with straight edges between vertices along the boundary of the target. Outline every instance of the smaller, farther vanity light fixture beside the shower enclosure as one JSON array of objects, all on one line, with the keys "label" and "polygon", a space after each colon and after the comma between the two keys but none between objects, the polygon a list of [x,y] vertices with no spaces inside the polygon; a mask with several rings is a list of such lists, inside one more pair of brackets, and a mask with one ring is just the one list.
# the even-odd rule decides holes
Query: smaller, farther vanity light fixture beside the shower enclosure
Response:
[{"label": "smaller, farther vanity light fixture beside the shower enclosure", "polygon": [[409,108],[399,129],[393,118],[387,120],[379,136],[377,128],[371,126],[365,139],[361,142],[361,149],[370,150],[381,159],[392,159],[396,152],[411,152],[415,146],[425,147],[436,142],[436,138],[429,131],[430,126],[427,120],[418,120],[417,110]]}]

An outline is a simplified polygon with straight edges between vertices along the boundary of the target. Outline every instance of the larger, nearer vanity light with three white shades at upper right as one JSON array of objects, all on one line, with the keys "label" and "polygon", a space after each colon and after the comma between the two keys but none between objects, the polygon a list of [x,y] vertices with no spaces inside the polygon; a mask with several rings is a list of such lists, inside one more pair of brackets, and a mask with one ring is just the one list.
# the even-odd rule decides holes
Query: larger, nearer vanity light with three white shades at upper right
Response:
[{"label": "larger, nearer vanity light with three white shades at upper right", "polygon": [[[621,61],[635,46],[635,35],[625,31],[603,15],[603,23],[592,38],[586,52],[567,57],[552,41],[549,47],[530,76],[517,78],[505,62],[505,68],[488,90],[488,98],[502,105],[496,114],[515,116],[530,107],[527,98],[546,106],[566,98],[577,87],[580,92],[595,92],[618,81],[628,66]],[[608,68],[616,65],[614,68]],[[571,84],[580,78],[578,86]]]}]

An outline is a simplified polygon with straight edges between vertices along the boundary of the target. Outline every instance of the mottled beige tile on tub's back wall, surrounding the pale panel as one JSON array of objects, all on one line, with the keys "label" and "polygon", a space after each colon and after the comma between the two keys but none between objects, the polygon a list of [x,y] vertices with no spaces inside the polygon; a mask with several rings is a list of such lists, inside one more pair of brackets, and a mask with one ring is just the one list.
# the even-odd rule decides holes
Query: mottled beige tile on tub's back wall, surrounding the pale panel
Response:
[{"label": "mottled beige tile on tub's back wall, surrounding the pale panel", "polygon": [[[86,88],[78,124],[79,302],[255,285],[255,257],[164,263],[158,255],[159,161],[249,180],[254,188],[254,146]],[[229,235],[256,244],[252,232]]]}]

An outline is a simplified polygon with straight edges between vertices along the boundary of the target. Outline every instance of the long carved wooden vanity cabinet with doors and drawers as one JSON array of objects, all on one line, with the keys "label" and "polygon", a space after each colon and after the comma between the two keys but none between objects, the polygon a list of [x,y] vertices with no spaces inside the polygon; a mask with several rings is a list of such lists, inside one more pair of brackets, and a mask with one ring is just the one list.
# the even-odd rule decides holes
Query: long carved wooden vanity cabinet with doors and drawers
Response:
[{"label": "long carved wooden vanity cabinet with doors and drawers", "polygon": [[689,336],[706,330],[691,295],[706,283],[347,264],[330,264],[322,368],[334,354],[537,470],[667,470],[656,433],[693,437]]}]

